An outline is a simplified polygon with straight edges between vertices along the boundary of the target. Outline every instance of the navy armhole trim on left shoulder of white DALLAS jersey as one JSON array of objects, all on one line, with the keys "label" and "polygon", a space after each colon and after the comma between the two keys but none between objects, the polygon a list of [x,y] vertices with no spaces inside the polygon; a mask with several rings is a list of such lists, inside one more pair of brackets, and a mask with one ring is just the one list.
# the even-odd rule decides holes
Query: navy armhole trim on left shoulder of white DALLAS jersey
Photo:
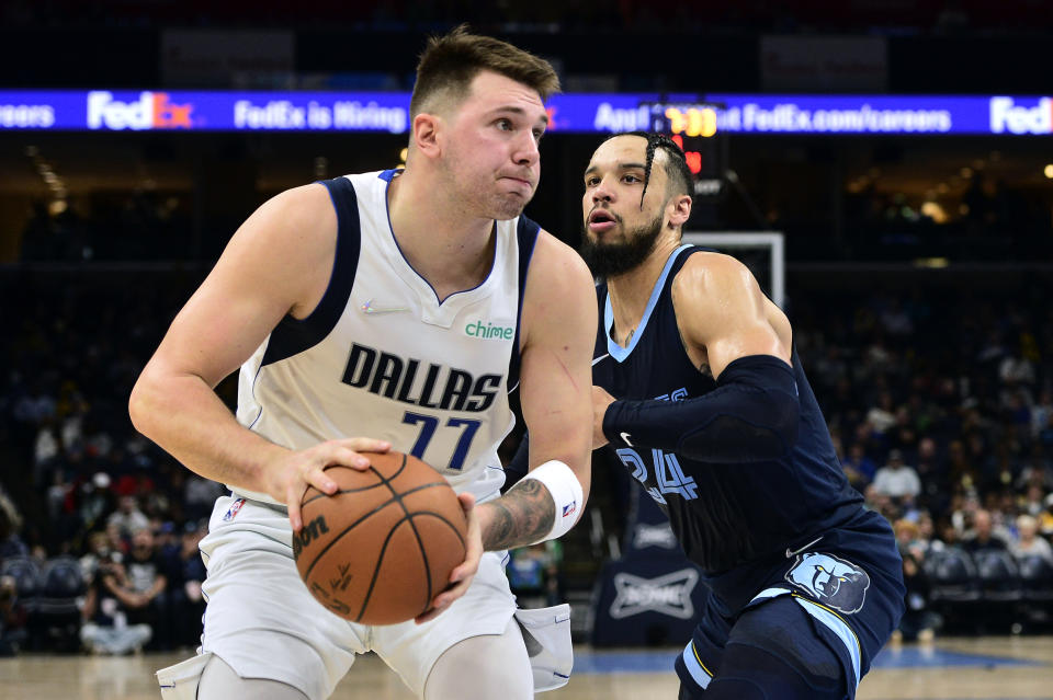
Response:
[{"label": "navy armhole trim on left shoulder of white DALLAS jersey", "polygon": [[286,315],[274,326],[261,367],[303,353],[324,341],[336,328],[348,306],[348,299],[351,298],[362,248],[359,200],[354,194],[354,185],[347,177],[325,180],[318,184],[329,191],[329,198],[337,211],[337,249],[329,285],[310,315],[305,319]]}]

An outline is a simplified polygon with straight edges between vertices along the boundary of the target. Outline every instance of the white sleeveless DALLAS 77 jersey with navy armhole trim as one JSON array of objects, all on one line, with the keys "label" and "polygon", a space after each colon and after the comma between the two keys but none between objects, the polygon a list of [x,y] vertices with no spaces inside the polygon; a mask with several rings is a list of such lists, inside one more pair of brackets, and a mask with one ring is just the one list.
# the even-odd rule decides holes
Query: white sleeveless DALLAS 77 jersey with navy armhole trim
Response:
[{"label": "white sleeveless DALLAS 77 jersey with navy armhole trim", "polygon": [[392,233],[395,175],[321,183],[338,218],[329,287],[309,317],[285,317],[242,365],[238,422],[291,449],[388,440],[456,492],[494,498],[505,482],[497,448],[514,424],[508,391],[518,382],[520,302],[539,227],[498,221],[489,276],[440,303]]}]

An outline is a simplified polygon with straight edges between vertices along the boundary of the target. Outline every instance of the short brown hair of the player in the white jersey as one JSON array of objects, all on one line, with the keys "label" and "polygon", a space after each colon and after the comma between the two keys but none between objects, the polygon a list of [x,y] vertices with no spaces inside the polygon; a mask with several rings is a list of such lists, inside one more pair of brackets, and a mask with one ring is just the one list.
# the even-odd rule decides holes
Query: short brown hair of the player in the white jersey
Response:
[{"label": "short brown hair of the player in the white jersey", "polygon": [[542,101],[559,92],[559,77],[548,61],[508,42],[469,34],[467,25],[462,24],[449,34],[428,39],[417,65],[417,83],[409,101],[410,118],[432,108],[437,97],[451,96],[460,102],[484,70],[533,88]]}]

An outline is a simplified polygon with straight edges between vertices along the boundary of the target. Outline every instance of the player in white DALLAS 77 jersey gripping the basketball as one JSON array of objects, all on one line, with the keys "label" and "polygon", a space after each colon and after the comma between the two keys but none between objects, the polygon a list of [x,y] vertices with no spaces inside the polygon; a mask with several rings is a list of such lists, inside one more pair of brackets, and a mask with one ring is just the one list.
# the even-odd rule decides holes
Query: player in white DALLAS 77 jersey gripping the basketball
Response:
[{"label": "player in white DALLAS 77 jersey gripping the basketball", "polygon": [[[371,650],[429,700],[565,682],[565,659],[534,643],[553,630],[516,611],[502,570],[503,550],[569,529],[589,490],[592,279],[520,216],[557,89],[546,61],[503,42],[463,28],[431,39],[406,169],[265,203],[172,322],[132,418],[231,494],[201,544],[202,649],[159,672],[163,698],[321,700]],[[213,388],[239,366],[235,416]],[[501,496],[517,379],[531,471]],[[291,542],[308,485],[336,491],[327,466],[365,469],[387,449],[448,478],[469,541],[416,621],[363,627],[310,596]],[[562,608],[543,617],[569,649]]]}]

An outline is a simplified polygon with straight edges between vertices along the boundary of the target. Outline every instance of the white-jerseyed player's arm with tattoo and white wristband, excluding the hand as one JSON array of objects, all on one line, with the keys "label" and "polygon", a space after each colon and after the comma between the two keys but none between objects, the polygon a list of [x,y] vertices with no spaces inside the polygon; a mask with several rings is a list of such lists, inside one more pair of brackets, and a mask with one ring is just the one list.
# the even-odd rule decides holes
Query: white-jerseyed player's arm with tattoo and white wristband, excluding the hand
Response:
[{"label": "white-jerseyed player's arm with tattoo and white wristband, excluding the hand", "polygon": [[479,506],[487,550],[558,536],[580,517],[589,493],[592,277],[577,253],[542,231],[525,294],[519,391],[530,429],[530,473]]}]

